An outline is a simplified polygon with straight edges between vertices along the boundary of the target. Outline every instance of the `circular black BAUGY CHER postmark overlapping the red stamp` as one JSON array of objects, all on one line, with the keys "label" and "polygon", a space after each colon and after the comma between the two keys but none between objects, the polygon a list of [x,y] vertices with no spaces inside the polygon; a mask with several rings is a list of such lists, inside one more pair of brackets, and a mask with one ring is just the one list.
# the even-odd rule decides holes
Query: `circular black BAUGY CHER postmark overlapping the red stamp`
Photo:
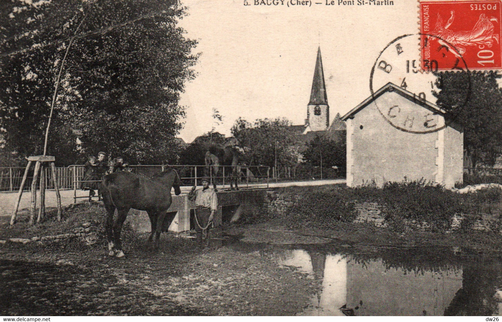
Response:
[{"label": "circular black BAUGY CHER postmark overlapping the red stamp", "polygon": [[[438,37],[425,34],[408,34],[390,42],[376,58],[369,78],[369,90],[372,100],[380,114],[393,127],[410,133],[430,133],[447,126],[441,114],[444,110],[435,105],[435,93],[440,91],[441,73],[467,72],[467,64],[454,47],[442,46],[431,48],[431,39]],[[422,40],[422,42],[421,42]],[[441,53],[441,61],[421,57],[420,46]],[[436,55],[437,56],[437,55]],[[439,71],[441,70],[441,72]],[[446,72],[448,73],[448,72]],[[469,99],[470,79],[462,83],[458,89],[459,105]],[[384,95],[395,92],[408,99],[399,100],[396,96]]]}]

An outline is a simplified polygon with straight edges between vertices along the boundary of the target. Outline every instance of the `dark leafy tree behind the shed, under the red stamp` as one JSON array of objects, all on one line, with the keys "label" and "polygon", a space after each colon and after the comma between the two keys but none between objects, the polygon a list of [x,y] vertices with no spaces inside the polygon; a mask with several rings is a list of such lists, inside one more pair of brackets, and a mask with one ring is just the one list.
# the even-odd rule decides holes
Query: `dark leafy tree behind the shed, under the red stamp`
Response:
[{"label": "dark leafy tree behind the shed, under the red stamp", "polygon": [[496,72],[445,72],[436,82],[441,90],[434,93],[437,105],[463,125],[464,148],[473,167],[493,166],[502,151],[502,91],[497,83],[500,77]]}]

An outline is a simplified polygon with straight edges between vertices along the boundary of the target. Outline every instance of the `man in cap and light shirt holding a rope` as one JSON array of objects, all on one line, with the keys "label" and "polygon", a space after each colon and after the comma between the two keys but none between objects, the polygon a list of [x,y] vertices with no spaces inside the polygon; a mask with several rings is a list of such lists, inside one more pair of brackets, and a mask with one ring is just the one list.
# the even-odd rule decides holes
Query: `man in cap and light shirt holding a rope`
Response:
[{"label": "man in cap and light shirt holding a rope", "polygon": [[188,194],[188,199],[195,199],[195,231],[197,232],[197,242],[202,243],[202,233],[206,231],[206,241],[209,240],[209,226],[214,217],[214,212],[218,209],[218,197],[216,191],[209,188],[209,178],[202,178],[202,188],[195,190],[195,186]]}]

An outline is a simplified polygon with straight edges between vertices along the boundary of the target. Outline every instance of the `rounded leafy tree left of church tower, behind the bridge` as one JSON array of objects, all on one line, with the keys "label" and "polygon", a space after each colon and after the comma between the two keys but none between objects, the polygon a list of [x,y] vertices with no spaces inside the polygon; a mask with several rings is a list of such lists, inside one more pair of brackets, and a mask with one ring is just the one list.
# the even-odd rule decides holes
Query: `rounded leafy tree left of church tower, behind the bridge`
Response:
[{"label": "rounded leafy tree left of church tower, behind the bridge", "polygon": [[287,118],[257,119],[254,124],[238,118],[231,128],[232,135],[244,150],[249,165],[291,166],[297,163],[291,122]]}]

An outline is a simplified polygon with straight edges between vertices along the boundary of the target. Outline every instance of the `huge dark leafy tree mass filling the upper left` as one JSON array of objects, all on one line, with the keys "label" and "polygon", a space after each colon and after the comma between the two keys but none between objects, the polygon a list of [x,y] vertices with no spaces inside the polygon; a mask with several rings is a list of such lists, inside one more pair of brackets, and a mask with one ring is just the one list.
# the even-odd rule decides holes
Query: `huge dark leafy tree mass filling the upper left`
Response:
[{"label": "huge dark leafy tree mass filling the upper left", "polygon": [[[172,162],[182,127],[178,105],[194,77],[196,42],[177,21],[174,0],[60,0],[3,4],[0,131],[5,150],[42,152],[57,74],[63,65],[49,154],[59,163],[104,150],[131,163]],[[72,130],[83,133],[76,149]],[[62,137],[64,136],[64,137]],[[71,155],[58,154],[71,151]],[[60,157],[73,159],[63,160]]]}]

